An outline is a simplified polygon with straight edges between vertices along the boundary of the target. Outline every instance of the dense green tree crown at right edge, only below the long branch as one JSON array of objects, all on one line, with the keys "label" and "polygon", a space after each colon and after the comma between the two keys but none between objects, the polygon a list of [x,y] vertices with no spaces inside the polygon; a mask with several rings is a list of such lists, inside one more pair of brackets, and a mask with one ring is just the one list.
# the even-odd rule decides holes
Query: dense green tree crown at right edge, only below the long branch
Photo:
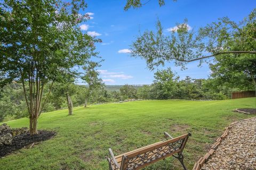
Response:
[{"label": "dense green tree crown at right edge, only below the long branch", "polygon": [[256,57],[253,55],[237,55],[216,57],[216,63],[210,64],[211,76],[218,84],[230,88],[256,91]]}]

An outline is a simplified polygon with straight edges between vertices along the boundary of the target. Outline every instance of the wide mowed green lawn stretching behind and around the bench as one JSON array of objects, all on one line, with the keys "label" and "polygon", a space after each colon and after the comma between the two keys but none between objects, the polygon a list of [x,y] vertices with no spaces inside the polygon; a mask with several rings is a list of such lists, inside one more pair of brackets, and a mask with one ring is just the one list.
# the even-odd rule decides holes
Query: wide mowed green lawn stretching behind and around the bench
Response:
[{"label": "wide mowed green lawn stretching behind and around the bench", "polygon": [[[226,126],[253,116],[232,112],[245,107],[256,107],[256,98],[146,100],[77,107],[71,116],[67,109],[44,113],[38,120],[38,129],[54,130],[57,135],[0,158],[0,169],[108,169],[108,148],[119,155],[164,139],[164,131],[173,137],[192,133],[184,152],[185,165],[192,169]],[[28,126],[29,120],[6,123],[18,128]],[[182,167],[170,157],[146,169]]]}]

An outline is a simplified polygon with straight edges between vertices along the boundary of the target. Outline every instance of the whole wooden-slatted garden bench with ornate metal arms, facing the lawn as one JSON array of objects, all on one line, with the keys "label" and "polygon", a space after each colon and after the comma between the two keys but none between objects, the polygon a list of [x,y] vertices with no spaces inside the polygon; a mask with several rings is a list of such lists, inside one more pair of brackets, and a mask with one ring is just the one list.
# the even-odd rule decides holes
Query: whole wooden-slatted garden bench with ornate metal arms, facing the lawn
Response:
[{"label": "whole wooden-slatted garden bench with ornate metal arms, facing the lawn", "polygon": [[[113,151],[109,148],[109,169],[110,170],[131,170],[141,169],[145,166],[153,164],[158,160],[173,156],[179,159],[185,170],[183,163],[182,151],[186,145],[190,133],[183,134],[180,137],[172,138],[167,132],[164,132],[166,141],[156,142],[152,145],[126,152],[124,154],[114,156]],[[174,155],[176,154],[176,155]]]}]

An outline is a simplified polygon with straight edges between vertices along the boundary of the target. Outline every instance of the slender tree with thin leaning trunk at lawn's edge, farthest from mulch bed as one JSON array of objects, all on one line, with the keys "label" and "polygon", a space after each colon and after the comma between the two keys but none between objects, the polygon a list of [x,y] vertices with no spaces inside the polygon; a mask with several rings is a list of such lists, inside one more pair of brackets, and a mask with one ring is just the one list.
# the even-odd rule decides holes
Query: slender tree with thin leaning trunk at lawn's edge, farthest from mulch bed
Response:
[{"label": "slender tree with thin leaning trunk at lawn's edge, farthest from mulch bed", "polygon": [[101,66],[99,64],[100,62],[90,61],[83,66],[84,73],[81,79],[84,80],[84,82],[88,85],[88,88],[86,88],[85,91],[84,107],[87,107],[87,102],[91,97],[93,91],[105,86],[105,84],[102,82],[102,79],[99,78],[100,73],[97,70],[95,70],[97,67]]}]

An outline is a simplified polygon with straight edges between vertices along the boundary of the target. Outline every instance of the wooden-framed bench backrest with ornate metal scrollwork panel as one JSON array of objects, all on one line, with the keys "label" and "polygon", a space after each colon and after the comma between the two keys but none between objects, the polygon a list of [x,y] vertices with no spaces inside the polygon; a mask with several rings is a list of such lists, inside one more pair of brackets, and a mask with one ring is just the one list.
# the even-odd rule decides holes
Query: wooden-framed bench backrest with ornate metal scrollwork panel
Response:
[{"label": "wooden-framed bench backrest with ornate metal scrollwork panel", "polygon": [[140,169],[168,156],[182,152],[188,134],[158,143],[157,145],[123,155],[121,170]]}]

